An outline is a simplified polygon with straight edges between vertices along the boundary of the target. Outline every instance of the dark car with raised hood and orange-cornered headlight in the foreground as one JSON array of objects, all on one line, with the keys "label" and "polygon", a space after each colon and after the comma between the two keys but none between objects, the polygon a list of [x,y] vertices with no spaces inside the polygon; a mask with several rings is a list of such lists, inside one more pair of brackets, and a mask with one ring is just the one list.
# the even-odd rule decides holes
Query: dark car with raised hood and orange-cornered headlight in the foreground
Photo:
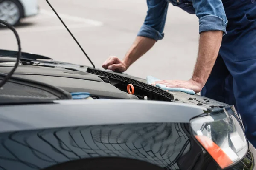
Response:
[{"label": "dark car with raised hood and orange-cornered headlight in the foreground", "polygon": [[20,45],[0,79],[0,170],[256,169],[232,105]]}]

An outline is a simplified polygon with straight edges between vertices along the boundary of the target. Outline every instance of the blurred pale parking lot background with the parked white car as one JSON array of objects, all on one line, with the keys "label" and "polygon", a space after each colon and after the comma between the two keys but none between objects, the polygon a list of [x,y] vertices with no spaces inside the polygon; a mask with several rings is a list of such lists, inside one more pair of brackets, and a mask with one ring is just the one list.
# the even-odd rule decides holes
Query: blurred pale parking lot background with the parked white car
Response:
[{"label": "blurred pale parking lot background with the parked white car", "polygon": [[[146,0],[49,0],[96,65],[122,59],[147,12]],[[0,18],[15,24],[23,52],[90,65],[45,0],[0,0]],[[20,20],[20,22],[19,22]],[[17,23],[17,24],[16,24]],[[169,4],[165,37],[125,73],[189,79],[198,49],[198,18]],[[0,48],[17,51],[12,31],[0,28]]]}]

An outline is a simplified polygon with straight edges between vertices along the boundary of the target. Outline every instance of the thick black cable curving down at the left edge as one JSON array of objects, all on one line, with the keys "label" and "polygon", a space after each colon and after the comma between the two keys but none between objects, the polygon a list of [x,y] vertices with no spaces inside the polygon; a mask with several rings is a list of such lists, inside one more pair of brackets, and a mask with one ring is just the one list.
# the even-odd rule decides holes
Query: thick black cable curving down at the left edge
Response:
[{"label": "thick black cable curving down at the left edge", "polygon": [[20,63],[20,58],[21,58],[21,46],[20,46],[20,37],[17,33],[17,31],[15,30],[15,28],[9,24],[9,23],[6,23],[5,21],[3,20],[0,20],[0,23],[7,26],[10,30],[12,30],[15,34],[15,37],[17,39],[17,42],[18,42],[18,55],[17,55],[17,61],[15,63],[15,66],[14,68],[12,69],[12,71],[9,72],[9,74],[6,75],[6,77],[0,82],[0,88],[3,87],[3,85],[11,78],[12,74],[15,72],[15,70],[17,69],[19,63]]}]

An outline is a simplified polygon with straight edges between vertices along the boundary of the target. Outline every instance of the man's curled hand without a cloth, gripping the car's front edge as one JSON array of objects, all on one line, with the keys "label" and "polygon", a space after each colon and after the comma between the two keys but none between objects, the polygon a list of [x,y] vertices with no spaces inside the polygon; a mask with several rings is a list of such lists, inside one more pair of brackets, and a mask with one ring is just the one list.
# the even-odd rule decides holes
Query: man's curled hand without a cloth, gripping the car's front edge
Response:
[{"label": "man's curled hand without a cloth, gripping the car's front edge", "polygon": [[122,62],[118,57],[111,56],[109,57],[102,65],[104,69],[109,69],[116,72],[124,72],[127,70],[127,66]]}]

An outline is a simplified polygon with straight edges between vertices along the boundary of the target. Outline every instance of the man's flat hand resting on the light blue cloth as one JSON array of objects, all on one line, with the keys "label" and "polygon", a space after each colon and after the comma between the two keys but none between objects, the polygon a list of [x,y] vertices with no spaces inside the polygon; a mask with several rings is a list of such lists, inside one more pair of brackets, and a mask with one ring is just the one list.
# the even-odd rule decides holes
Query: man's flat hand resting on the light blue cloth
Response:
[{"label": "man's flat hand resting on the light blue cloth", "polygon": [[195,91],[195,93],[199,93],[204,87],[204,85],[192,79],[188,81],[160,80],[160,81],[153,82],[151,85],[156,85],[156,84],[166,85],[166,87],[169,87],[169,88],[186,88],[186,89]]}]

